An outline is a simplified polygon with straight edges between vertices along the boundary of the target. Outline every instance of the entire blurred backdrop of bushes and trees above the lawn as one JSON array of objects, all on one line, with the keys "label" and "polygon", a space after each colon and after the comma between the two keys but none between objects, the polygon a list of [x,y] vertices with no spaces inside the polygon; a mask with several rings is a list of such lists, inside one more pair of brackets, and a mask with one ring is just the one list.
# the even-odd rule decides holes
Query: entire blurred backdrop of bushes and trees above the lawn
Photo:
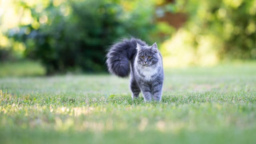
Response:
[{"label": "entire blurred backdrop of bushes and trees above the lawn", "polygon": [[0,0],[0,76],[107,72],[134,36],[165,67],[256,59],[256,0]]}]

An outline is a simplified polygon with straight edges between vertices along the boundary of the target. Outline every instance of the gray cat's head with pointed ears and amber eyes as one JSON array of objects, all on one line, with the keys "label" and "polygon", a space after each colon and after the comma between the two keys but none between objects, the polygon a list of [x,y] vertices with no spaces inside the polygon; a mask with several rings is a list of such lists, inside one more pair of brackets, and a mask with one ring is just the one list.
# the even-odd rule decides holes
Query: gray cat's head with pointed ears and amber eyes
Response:
[{"label": "gray cat's head with pointed ears and amber eyes", "polygon": [[156,42],[152,46],[141,46],[137,43],[137,63],[141,66],[154,66],[159,60]]}]

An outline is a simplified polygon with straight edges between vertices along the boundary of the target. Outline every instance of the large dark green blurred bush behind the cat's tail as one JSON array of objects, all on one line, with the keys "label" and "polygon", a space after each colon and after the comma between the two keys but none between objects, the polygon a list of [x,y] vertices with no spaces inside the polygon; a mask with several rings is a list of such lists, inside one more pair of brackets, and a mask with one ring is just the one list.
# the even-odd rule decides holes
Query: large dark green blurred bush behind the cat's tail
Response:
[{"label": "large dark green blurred bush behind the cat's tail", "polygon": [[[105,71],[107,48],[123,37],[135,36],[151,43],[153,2],[124,0],[64,1],[32,12],[36,24],[20,26],[18,34],[9,36],[26,44],[26,56],[36,58],[46,66],[47,74],[66,71]],[[141,4],[140,4],[141,3]],[[28,32],[29,31],[29,32]]]}]

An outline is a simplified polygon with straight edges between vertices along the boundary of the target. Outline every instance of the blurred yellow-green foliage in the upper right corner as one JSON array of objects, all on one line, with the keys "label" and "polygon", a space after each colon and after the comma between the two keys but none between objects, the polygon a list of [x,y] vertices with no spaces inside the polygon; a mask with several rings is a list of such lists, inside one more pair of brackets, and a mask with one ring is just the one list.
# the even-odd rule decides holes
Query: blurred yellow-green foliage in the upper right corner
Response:
[{"label": "blurred yellow-green foliage in the upper right corner", "polygon": [[256,0],[177,0],[176,7],[188,14],[195,49],[211,37],[221,59],[256,58]]}]

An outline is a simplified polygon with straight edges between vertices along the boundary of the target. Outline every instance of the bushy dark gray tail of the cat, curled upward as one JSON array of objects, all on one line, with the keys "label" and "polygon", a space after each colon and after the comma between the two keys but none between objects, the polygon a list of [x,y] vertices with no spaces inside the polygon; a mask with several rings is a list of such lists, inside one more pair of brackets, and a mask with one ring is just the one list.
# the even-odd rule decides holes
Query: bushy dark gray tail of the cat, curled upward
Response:
[{"label": "bushy dark gray tail of the cat, curled upward", "polygon": [[146,42],[136,38],[123,39],[112,45],[107,54],[108,71],[120,77],[127,77],[130,74],[130,61],[137,51],[137,43],[146,45]]}]

